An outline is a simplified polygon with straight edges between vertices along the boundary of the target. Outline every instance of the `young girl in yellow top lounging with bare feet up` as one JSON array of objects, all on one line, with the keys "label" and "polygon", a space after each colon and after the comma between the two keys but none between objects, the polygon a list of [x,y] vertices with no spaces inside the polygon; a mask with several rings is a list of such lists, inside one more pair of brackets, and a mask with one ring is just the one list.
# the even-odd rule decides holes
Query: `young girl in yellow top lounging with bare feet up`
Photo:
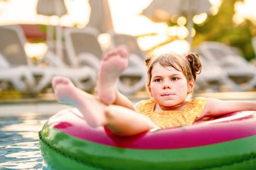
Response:
[{"label": "young girl in yellow top lounging with bare feet up", "polygon": [[197,54],[181,56],[174,53],[146,60],[146,87],[152,98],[139,101],[134,107],[117,90],[117,80],[127,68],[128,56],[124,47],[104,55],[96,96],[77,89],[65,77],[54,77],[55,97],[60,103],[77,108],[90,126],[106,126],[120,136],[131,136],[154,128],[190,125],[242,110],[256,110],[255,101],[191,99],[197,74],[201,71],[199,57]]}]

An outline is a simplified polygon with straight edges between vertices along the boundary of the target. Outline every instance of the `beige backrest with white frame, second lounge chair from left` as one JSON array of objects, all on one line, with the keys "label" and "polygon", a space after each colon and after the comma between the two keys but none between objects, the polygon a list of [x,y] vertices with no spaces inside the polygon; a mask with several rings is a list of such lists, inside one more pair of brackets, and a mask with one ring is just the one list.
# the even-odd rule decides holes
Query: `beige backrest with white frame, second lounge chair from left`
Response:
[{"label": "beige backrest with white frame, second lounge chair from left", "polygon": [[103,50],[95,28],[66,28],[64,31],[67,60],[73,67],[89,66],[98,71]]}]

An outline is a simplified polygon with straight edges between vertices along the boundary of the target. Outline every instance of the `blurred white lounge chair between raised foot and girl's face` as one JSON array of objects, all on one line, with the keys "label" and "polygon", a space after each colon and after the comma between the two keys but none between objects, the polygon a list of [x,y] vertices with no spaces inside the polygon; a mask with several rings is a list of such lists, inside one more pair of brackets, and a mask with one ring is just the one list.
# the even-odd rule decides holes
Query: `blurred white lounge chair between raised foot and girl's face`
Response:
[{"label": "blurred white lounge chair between raised foot and girl's face", "polygon": [[133,94],[146,86],[148,79],[145,65],[145,54],[139,48],[134,36],[127,34],[115,34],[110,32],[113,46],[125,45],[129,49],[129,65],[121,75],[118,83],[119,90],[125,94]]}]

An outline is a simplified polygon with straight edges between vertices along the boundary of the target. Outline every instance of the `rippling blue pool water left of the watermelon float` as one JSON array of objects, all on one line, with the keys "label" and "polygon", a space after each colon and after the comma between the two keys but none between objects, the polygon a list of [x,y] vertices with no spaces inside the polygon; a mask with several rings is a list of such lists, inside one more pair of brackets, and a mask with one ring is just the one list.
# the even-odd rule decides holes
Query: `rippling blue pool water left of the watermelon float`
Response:
[{"label": "rippling blue pool water left of the watermelon float", "polygon": [[38,131],[49,116],[0,117],[0,169],[47,169],[39,150]]}]

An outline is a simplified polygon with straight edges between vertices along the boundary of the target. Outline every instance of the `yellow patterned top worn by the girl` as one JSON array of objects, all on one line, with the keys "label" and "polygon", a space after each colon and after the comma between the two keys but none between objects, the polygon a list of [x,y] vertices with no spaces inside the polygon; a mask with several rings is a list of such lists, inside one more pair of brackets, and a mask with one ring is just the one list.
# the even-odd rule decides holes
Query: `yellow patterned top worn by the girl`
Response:
[{"label": "yellow patterned top worn by the girl", "polygon": [[148,116],[160,128],[190,125],[195,122],[205,107],[206,99],[203,97],[193,98],[183,111],[157,111],[154,112],[156,101],[152,99],[139,101],[137,110],[140,114]]}]

